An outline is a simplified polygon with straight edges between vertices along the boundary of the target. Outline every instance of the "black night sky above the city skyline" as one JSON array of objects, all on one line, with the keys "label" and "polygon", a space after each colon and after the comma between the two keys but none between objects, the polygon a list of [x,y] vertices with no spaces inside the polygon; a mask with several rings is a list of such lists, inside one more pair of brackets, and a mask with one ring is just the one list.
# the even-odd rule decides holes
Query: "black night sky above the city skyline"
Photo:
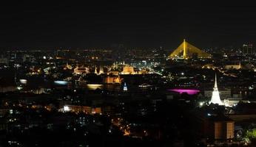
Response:
[{"label": "black night sky above the city skyline", "polygon": [[12,1],[0,4],[0,47],[83,48],[123,43],[172,49],[183,38],[200,48],[256,43],[256,7],[242,2]]}]

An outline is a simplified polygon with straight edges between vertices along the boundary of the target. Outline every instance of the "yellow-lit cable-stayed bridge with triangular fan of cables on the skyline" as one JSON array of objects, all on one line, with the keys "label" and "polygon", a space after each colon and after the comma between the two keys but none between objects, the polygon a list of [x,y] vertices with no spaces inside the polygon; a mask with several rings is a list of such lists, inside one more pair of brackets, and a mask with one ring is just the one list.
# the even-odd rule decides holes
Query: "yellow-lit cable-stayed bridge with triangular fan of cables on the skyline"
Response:
[{"label": "yellow-lit cable-stayed bridge with triangular fan of cables on the skyline", "polygon": [[186,40],[183,40],[183,43],[181,43],[181,45],[178,46],[178,48],[169,55],[169,58],[190,59],[195,56],[198,58],[212,57],[211,54],[201,51],[201,49],[198,49],[197,47],[192,46],[190,43],[186,42]]}]

